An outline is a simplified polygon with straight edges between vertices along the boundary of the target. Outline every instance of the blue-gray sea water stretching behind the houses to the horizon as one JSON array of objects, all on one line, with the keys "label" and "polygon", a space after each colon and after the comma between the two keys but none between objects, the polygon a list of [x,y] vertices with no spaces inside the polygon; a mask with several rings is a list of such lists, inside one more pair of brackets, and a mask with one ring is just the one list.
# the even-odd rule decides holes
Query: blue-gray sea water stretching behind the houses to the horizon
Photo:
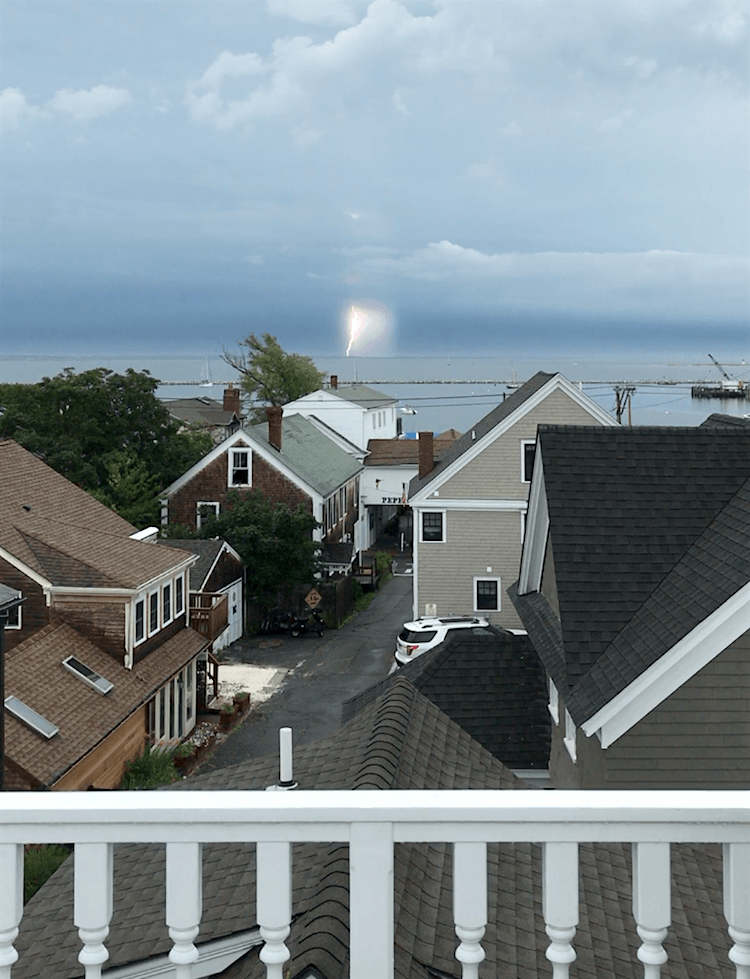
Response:
[{"label": "blue-gray sea water stretching behind the houses to the horizon", "polygon": [[[466,431],[538,370],[560,371],[580,383],[589,397],[614,417],[616,383],[632,384],[631,419],[634,425],[699,425],[709,414],[750,414],[750,401],[694,399],[690,382],[717,382],[717,368],[702,363],[648,361],[637,358],[587,360],[584,358],[482,358],[482,357],[316,357],[318,368],[336,374],[339,383],[370,383],[398,398],[405,433]],[[93,356],[6,358],[0,365],[0,381],[33,383],[59,373],[65,367],[77,371],[107,367],[121,373],[128,367],[148,370],[163,383],[162,398],[206,396],[221,400],[236,372],[219,356]],[[750,366],[726,364],[736,378],[750,383]],[[667,383],[667,382],[677,383]],[[433,383],[430,383],[433,382]],[[453,383],[451,383],[453,382]],[[650,383],[645,383],[650,382]],[[623,423],[627,423],[627,414]]]}]

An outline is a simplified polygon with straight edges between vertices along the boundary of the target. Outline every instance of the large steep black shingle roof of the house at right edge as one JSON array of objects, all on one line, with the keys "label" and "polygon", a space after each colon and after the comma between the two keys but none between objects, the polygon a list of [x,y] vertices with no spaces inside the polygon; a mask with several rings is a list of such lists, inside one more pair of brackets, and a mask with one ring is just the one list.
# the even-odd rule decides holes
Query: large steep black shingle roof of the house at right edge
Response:
[{"label": "large steep black shingle roof of the house at right edge", "polygon": [[560,621],[509,594],[577,724],[750,580],[750,431],[540,426]]}]

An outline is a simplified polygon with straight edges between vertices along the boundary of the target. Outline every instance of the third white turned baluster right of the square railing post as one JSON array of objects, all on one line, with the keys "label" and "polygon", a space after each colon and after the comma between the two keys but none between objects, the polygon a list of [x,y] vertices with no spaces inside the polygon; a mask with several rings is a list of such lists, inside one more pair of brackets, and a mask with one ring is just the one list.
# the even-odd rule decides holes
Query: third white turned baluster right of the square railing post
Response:
[{"label": "third white turned baluster right of the square railing post", "polygon": [[672,924],[669,843],[633,844],[633,917],[643,943],[638,949],[643,979],[660,979],[668,958],[662,942]]}]

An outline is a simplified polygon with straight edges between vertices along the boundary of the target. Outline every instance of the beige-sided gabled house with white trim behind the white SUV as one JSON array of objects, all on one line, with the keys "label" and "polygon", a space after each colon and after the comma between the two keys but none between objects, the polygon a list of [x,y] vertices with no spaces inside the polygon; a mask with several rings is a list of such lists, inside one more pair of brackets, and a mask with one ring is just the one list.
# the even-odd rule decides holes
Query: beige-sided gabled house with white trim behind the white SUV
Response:
[{"label": "beige-sided gabled house with white trim behind the white SUV", "polygon": [[561,374],[540,372],[412,480],[414,617],[479,613],[520,627],[505,589],[518,576],[537,426],[616,425]]}]

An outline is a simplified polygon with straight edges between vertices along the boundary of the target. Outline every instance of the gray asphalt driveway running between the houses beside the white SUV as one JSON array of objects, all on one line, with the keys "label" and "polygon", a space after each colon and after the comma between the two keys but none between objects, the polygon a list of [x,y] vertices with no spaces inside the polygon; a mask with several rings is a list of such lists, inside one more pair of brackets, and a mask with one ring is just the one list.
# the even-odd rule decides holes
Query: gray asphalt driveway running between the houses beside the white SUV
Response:
[{"label": "gray asphalt driveway running between the houses beside the white SUV", "polygon": [[222,665],[252,664],[282,672],[269,673],[268,699],[216,748],[201,773],[278,754],[280,727],[292,728],[294,744],[333,734],[341,724],[344,701],[391,670],[396,635],[411,619],[411,602],[411,575],[396,576],[364,612],[322,638],[316,633],[299,639],[252,636],[225,649]]}]

